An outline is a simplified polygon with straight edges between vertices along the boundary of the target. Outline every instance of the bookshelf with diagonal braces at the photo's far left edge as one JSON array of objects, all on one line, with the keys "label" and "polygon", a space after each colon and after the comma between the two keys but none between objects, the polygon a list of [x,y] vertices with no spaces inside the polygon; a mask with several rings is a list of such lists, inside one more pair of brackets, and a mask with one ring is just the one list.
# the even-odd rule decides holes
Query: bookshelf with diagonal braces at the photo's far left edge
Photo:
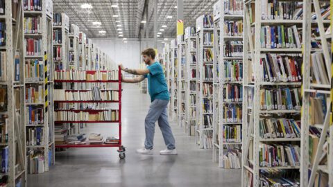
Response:
[{"label": "bookshelf with diagonal braces at the photo's far left edge", "polygon": [[[1,184],[26,186],[24,120],[24,43],[22,1],[5,1],[1,27],[0,124]],[[3,40],[2,40],[3,39]]]}]

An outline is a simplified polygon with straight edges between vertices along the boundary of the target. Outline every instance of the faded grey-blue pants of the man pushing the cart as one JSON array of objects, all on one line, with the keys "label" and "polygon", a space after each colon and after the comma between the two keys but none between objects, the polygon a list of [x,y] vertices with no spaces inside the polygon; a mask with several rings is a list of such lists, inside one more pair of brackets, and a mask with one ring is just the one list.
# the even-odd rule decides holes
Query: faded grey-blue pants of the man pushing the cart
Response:
[{"label": "faded grey-blue pants of the man pushing the cart", "polygon": [[158,120],[158,126],[162,131],[163,139],[165,145],[167,145],[168,150],[175,149],[175,139],[171,131],[168,119],[168,103],[169,100],[155,99],[151,106],[149,107],[148,114],[144,120],[144,127],[146,130],[146,141],[144,141],[144,146],[147,150],[153,149],[154,145],[154,134],[155,134],[155,123]]}]

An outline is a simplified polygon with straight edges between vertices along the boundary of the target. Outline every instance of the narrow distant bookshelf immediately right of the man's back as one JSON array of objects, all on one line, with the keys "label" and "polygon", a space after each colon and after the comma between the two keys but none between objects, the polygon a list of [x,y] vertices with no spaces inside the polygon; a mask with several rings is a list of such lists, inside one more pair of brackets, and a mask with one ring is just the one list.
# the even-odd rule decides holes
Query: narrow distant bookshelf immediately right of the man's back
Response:
[{"label": "narrow distant bookshelf immediately right of the man's back", "polygon": [[171,118],[177,120],[178,124],[178,48],[177,40],[170,42],[171,62]]}]

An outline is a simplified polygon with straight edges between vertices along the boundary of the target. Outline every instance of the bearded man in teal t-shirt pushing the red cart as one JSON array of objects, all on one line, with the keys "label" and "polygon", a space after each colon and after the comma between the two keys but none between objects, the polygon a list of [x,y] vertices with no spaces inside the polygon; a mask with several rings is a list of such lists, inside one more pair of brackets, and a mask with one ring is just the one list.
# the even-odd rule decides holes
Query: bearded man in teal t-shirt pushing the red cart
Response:
[{"label": "bearded man in teal t-shirt pushing the red cart", "polygon": [[149,107],[148,114],[144,121],[146,130],[146,140],[144,141],[144,148],[137,150],[138,154],[153,154],[153,140],[155,134],[155,122],[158,121],[160,130],[162,131],[166,150],[160,151],[160,154],[177,154],[175,147],[175,139],[169,125],[167,107],[169,103],[169,91],[167,81],[165,80],[162,66],[159,62],[155,61],[155,50],[147,48],[142,51],[146,69],[127,69],[122,64],[119,64],[121,70],[131,73],[133,75],[140,75],[133,79],[122,79],[122,82],[137,83],[145,78],[148,78],[148,91],[151,96],[151,106]]}]

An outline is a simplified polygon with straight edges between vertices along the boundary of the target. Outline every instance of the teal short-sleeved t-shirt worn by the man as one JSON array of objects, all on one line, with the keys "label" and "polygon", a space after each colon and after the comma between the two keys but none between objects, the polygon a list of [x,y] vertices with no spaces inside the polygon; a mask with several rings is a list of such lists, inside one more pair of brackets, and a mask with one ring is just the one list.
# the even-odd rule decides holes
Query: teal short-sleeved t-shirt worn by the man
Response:
[{"label": "teal short-sleeved t-shirt worn by the man", "polygon": [[147,66],[150,73],[144,75],[148,78],[148,91],[151,96],[151,102],[155,99],[169,100],[169,90],[167,80],[163,73],[163,68],[159,62],[154,62],[151,66]]}]

